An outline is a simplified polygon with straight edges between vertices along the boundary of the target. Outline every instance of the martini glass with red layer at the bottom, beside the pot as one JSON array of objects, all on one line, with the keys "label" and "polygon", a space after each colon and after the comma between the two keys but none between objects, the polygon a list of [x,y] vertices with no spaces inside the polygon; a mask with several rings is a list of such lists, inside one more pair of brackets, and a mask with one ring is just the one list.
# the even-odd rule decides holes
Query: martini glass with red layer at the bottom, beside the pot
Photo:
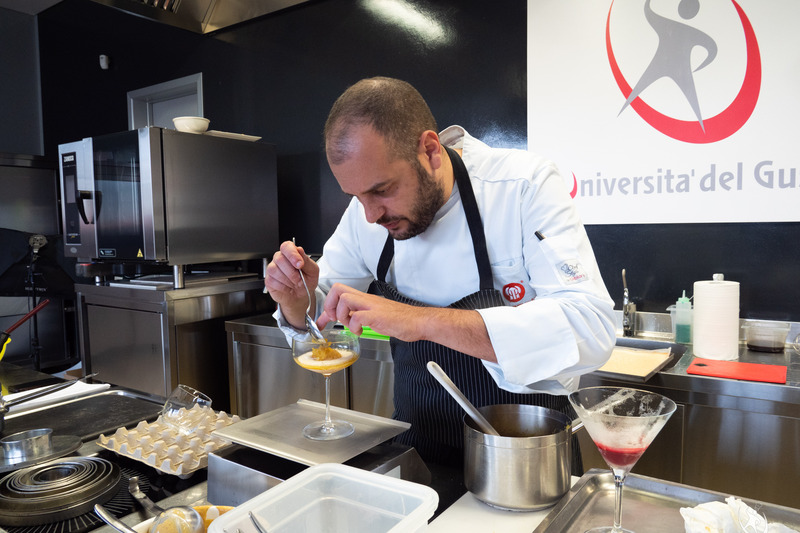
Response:
[{"label": "martini glass with red layer at the bottom, beside the pot", "polygon": [[675,402],[622,387],[580,389],[569,395],[569,402],[614,474],[614,525],[586,533],[632,533],[621,526],[625,477],[675,412]]}]

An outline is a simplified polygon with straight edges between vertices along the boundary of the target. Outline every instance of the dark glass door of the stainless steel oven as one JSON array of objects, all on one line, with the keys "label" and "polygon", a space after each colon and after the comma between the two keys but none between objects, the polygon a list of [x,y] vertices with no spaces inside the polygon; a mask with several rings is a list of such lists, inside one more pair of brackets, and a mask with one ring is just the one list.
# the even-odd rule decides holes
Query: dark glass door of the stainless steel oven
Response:
[{"label": "dark glass door of the stainless steel oven", "polygon": [[97,259],[166,261],[161,130],[92,139]]}]

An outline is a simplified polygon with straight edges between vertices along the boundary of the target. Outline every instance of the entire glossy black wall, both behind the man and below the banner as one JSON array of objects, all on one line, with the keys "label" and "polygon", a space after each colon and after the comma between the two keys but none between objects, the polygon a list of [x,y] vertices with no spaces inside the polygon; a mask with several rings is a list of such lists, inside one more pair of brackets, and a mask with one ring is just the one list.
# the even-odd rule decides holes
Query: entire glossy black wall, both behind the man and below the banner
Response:
[{"label": "entire glossy black wall, both behind the man and below the banner", "polygon": [[[206,36],[64,0],[38,17],[45,154],[54,157],[62,142],[127,129],[128,91],[202,72],[212,129],[277,146],[280,238],[294,236],[319,252],[347,201],[327,168],[320,132],[335,98],[358,79],[406,79],[441,127],[460,124],[490,144],[526,146],[526,2],[410,3],[446,21],[443,44],[378,20],[357,0],[310,1]],[[100,54],[111,57],[110,70],[100,70]],[[800,321],[800,224],[588,231],[618,306],[622,268],[639,308],[654,312],[682,289],[691,293],[693,281],[723,272],[742,283],[742,317]]]}]

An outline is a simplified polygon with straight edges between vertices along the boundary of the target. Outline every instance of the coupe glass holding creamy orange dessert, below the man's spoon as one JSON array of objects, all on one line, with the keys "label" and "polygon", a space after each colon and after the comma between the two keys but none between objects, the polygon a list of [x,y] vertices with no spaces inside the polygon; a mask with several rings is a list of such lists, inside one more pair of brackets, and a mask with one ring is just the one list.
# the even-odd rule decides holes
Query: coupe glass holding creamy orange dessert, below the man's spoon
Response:
[{"label": "coupe glass holding creamy orange dessert, below the man's spoon", "polygon": [[331,374],[344,370],[358,359],[358,337],[349,331],[323,331],[325,344],[308,340],[292,341],[294,362],[307,370],[325,376],[325,420],[312,422],[303,428],[303,435],[313,440],[334,440],[352,435],[353,424],[346,420],[331,420]]}]

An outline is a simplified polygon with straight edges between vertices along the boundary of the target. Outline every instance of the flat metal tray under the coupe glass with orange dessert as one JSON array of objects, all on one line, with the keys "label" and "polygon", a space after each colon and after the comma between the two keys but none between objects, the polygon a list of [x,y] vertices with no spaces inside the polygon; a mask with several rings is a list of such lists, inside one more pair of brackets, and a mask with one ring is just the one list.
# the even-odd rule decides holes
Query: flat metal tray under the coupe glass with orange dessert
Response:
[{"label": "flat metal tray under the coupe glass with orange dessert", "polygon": [[343,463],[399,435],[411,424],[331,406],[331,418],[356,428],[349,437],[318,441],[303,436],[303,428],[325,418],[325,404],[300,399],[280,409],[216,430],[213,435],[290,461],[314,466]]}]

